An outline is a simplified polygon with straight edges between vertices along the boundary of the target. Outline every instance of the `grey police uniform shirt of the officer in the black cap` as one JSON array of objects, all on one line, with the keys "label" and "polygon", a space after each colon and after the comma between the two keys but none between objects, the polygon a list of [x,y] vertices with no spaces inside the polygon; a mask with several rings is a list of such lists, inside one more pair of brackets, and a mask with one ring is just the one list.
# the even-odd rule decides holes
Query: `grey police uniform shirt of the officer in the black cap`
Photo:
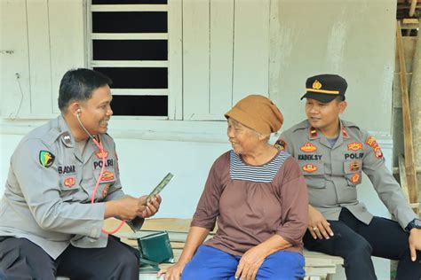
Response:
[{"label": "grey police uniform shirt of the officer in the black cap", "polygon": [[353,123],[340,121],[340,134],[333,146],[308,121],[283,132],[275,146],[298,160],[306,178],[309,202],[327,220],[338,221],[341,207],[346,207],[361,222],[369,224],[373,216],[357,198],[361,171],[369,176],[379,198],[402,229],[417,217],[385,167],[376,139]]}]

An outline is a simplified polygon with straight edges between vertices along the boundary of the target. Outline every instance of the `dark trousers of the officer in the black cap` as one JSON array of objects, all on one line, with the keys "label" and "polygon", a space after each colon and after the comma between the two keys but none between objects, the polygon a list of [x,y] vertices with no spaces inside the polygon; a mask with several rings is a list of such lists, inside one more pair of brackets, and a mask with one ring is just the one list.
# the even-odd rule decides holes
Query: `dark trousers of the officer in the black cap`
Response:
[{"label": "dark trousers of the officer in the black cap", "polygon": [[346,279],[377,279],[371,256],[399,261],[397,280],[421,279],[421,253],[417,261],[410,260],[409,234],[399,223],[374,217],[366,225],[343,208],[339,221],[329,221],[334,236],[314,239],[306,232],[303,238],[306,249],[344,258]]}]

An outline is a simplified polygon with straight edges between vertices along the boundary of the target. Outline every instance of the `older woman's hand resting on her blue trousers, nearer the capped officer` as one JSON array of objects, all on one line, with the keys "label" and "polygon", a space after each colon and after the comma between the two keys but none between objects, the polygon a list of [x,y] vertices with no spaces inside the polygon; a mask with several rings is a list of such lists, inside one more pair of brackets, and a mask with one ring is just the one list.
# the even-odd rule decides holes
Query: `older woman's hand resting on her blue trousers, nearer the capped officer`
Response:
[{"label": "older woman's hand resting on her blue trousers, nearer the capped officer", "polygon": [[256,279],[258,268],[260,268],[269,254],[270,251],[263,245],[257,245],[250,248],[242,255],[242,258],[238,263],[237,271],[235,271],[235,278],[237,279],[241,276],[242,280]]}]

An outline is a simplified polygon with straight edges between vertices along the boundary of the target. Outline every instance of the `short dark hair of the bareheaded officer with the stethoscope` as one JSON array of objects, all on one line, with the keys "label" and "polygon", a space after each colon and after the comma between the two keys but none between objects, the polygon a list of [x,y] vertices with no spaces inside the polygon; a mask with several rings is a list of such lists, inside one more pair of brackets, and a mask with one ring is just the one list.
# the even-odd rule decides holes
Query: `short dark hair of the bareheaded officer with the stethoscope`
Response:
[{"label": "short dark hair of the bareheaded officer with the stethoscope", "polygon": [[92,96],[94,89],[110,86],[113,82],[105,74],[91,69],[68,70],[60,82],[59,108],[66,112],[71,101],[84,101]]}]

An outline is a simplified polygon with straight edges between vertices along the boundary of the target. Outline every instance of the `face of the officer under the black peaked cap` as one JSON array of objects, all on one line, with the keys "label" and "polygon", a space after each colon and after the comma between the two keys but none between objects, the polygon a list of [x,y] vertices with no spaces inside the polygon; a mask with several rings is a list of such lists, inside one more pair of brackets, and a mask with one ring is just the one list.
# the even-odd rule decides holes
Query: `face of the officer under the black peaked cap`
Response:
[{"label": "face of the officer under the black peaked cap", "polygon": [[338,128],[339,113],[343,113],[346,102],[332,100],[322,103],[312,98],[306,99],[306,116],[310,125],[323,131]]}]

